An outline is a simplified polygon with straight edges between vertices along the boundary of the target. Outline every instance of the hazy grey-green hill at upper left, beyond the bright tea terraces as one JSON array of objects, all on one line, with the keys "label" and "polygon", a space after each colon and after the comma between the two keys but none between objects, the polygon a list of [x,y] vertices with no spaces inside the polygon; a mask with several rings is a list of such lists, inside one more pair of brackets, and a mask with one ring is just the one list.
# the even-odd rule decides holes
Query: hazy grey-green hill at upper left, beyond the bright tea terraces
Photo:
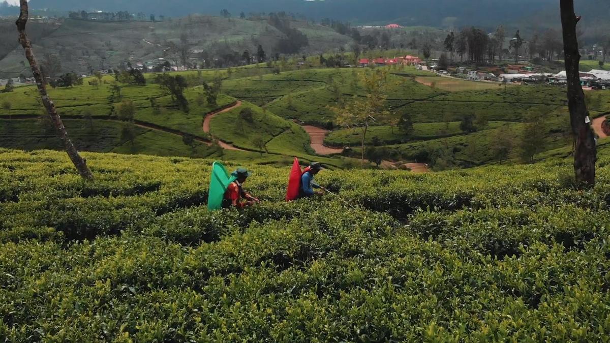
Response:
[{"label": "hazy grey-green hill at upper left, beyond the bright tea terraces", "polygon": [[[353,42],[350,37],[318,24],[293,21],[291,26],[307,35],[309,45],[301,52],[308,56],[339,46],[347,48]],[[61,60],[63,72],[82,74],[117,68],[127,62],[155,61],[159,57],[176,61],[173,64],[182,63],[179,54],[170,50],[172,44],[187,46],[189,64],[201,65],[206,60],[211,63],[213,59],[223,56],[231,56],[233,62],[239,62],[243,51],[247,50],[251,56],[255,56],[259,44],[271,57],[278,51],[278,42],[286,38],[266,20],[228,20],[196,15],[155,23],[99,23],[66,19],[51,27],[52,30],[45,32],[45,35],[32,37],[38,56],[56,54]],[[36,26],[33,29],[37,32]],[[9,39],[16,37],[15,23],[0,22],[0,32],[5,32],[2,37],[7,38],[0,45],[0,78],[16,77],[23,71],[27,74],[23,49],[18,47],[16,39]]]}]

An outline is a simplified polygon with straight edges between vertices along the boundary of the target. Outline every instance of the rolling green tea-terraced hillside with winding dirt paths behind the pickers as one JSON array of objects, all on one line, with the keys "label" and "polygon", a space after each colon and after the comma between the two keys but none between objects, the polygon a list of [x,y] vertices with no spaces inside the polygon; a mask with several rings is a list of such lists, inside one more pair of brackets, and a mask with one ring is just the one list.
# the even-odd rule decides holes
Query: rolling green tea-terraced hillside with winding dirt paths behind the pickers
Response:
[{"label": "rolling green tea-terraced hillside with winding dirt paths behind the pickers", "polygon": [[[356,162],[316,155],[310,146],[311,138],[301,126],[334,129],[324,141],[334,149],[327,151],[337,154],[350,146],[348,157],[356,157],[360,130],[340,127],[331,107],[351,101],[354,96],[365,96],[360,76],[371,71],[305,68],[277,73],[277,68],[279,63],[271,67],[170,73],[185,76],[192,83],[185,91],[190,103],[188,113],[176,107],[170,95],[154,84],[152,73],[146,74],[145,86],[119,84],[120,94],[110,76],[99,87],[88,85],[85,80],[85,85],[52,89],[50,94],[77,146],[85,151],[278,164],[290,164],[287,156],[299,156],[306,161],[319,159],[334,167],[349,167]],[[367,142],[383,150],[385,159],[434,164],[442,153],[448,154],[443,159],[453,161],[454,167],[512,160],[519,157],[523,132],[532,120],[540,121],[536,130],[542,148],[537,154],[569,145],[562,87],[453,81],[412,67],[388,71],[385,106],[392,116],[377,121],[367,135]],[[224,81],[217,104],[211,105],[198,82],[214,78]],[[448,82],[457,85],[445,84]],[[609,91],[591,92],[587,98],[592,117],[610,114]],[[134,139],[121,135],[123,124],[116,110],[124,101],[134,101],[137,109]],[[4,107],[5,103],[10,109]],[[231,109],[218,112],[228,106]],[[218,113],[208,118],[206,128],[204,118],[212,112]],[[0,147],[59,148],[48,123],[37,119],[40,114],[34,87],[0,93]],[[414,131],[409,134],[392,126],[393,118],[403,115],[409,115],[414,123]],[[461,121],[468,116],[477,121],[476,127],[464,131]],[[184,136],[195,141],[189,145]]]}]

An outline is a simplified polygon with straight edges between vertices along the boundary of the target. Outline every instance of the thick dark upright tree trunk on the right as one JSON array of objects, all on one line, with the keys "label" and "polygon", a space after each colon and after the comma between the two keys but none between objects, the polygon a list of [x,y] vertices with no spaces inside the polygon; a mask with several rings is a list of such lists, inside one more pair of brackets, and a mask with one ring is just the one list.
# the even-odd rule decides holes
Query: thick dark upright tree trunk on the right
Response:
[{"label": "thick dark upright tree trunk on the right", "polygon": [[564,32],[565,71],[568,84],[568,107],[572,133],[576,139],[574,151],[574,171],[576,183],[581,186],[595,186],[595,162],[597,146],[590,123],[586,123],[587,105],[584,101],[583,87],[580,84],[578,38],[576,24],[580,16],[574,14],[574,0],[561,0],[561,24]]}]

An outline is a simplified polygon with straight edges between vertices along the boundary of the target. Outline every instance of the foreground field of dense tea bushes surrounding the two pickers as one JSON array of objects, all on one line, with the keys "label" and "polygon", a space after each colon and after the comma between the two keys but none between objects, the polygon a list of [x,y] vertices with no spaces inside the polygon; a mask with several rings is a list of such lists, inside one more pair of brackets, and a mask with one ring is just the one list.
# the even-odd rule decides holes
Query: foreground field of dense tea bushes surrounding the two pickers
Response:
[{"label": "foreground field of dense tea bushes surrounding the two pickers", "polygon": [[260,206],[209,212],[211,160],[85,153],[84,182],[0,150],[0,340],[603,342],[609,153],[586,191],[550,156],[324,170],[337,197],[294,203],[289,167],[246,165]]}]

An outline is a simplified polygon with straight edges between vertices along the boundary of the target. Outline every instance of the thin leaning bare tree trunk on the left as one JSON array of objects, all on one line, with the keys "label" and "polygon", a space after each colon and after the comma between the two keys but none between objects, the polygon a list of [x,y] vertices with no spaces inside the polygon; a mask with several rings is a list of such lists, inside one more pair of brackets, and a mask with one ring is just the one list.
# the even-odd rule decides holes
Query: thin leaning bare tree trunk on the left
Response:
[{"label": "thin leaning bare tree trunk on the left", "polygon": [[62,118],[57,114],[57,110],[55,109],[55,104],[49,98],[49,95],[46,93],[45,80],[40,72],[40,68],[38,68],[38,63],[36,62],[36,58],[34,57],[34,52],[32,51],[32,43],[29,38],[27,38],[26,34],[26,24],[28,18],[28,9],[27,9],[27,0],[20,0],[21,4],[21,13],[19,15],[19,19],[16,21],[17,30],[19,31],[19,43],[23,46],[23,49],[26,51],[27,61],[30,63],[30,67],[32,68],[32,74],[34,74],[34,78],[36,79],[36,84],[38,86],[38,92],[40,92],[40,98],[45,106],[46,112],[51,117],[51,121],[57,132],[59,133],[59,137],[63,142],[63,145],[66,148],[66,152],[70,159],[74,163],[74,167],[79,171],[82,178],[87,180],[93,179],[93,174],[87,167],[87,161],[83,159],[74,144],[68,137],[68,132],[66,132],[65,126],[63,126]]}]

